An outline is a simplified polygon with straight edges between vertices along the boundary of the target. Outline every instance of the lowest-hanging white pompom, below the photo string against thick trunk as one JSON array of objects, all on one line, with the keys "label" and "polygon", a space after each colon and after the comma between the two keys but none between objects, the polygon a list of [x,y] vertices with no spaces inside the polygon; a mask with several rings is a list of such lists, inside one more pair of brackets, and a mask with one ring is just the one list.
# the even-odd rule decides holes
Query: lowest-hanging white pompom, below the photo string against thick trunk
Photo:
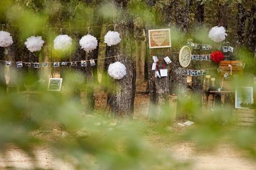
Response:
[{"label": "lowest-hanging white pompom, below the photo string against thick trunk", "polygon": [[126,68],[124,64],[120,62],[115,62],[109,64],[108,74],[110,77],[113,77],[114,79],[121,79],[126,75]]}]

